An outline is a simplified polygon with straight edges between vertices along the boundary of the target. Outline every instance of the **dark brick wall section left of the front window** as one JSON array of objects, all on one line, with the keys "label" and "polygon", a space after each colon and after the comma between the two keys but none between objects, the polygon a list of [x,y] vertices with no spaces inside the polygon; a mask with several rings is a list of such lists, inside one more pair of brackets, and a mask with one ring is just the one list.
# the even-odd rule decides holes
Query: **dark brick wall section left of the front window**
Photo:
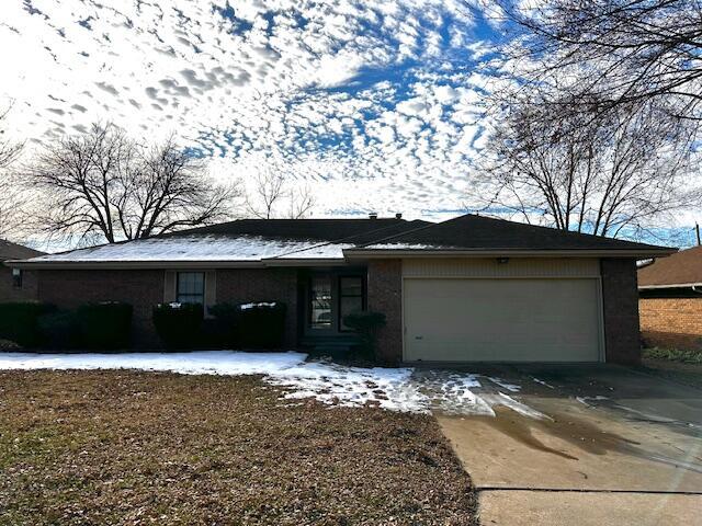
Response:
[{"label": "dark brick wall section left of the front window", "polygon": [[137,348],[162,344],[151,309],[163,301],[163,271],[41,271],[38,297],[59,308],[91,301],[124,301],[134,307],[132,340]]}]

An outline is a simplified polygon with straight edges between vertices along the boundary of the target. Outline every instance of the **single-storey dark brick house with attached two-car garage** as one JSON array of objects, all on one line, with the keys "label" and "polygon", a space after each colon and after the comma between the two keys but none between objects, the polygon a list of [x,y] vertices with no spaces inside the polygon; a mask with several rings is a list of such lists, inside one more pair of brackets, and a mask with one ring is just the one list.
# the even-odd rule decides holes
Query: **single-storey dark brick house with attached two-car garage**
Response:
[{"label": "single-storey dark brick house with attached two-car garage", "polygon": [[39,298],[135,308],[135,341],[158,345],[160,301],[281,300],[290,347],[329,345],[343,316],[386,315],[387,362],[639,359],[636,260],[675,249],[466,215],[247,219],[9,263]]}]

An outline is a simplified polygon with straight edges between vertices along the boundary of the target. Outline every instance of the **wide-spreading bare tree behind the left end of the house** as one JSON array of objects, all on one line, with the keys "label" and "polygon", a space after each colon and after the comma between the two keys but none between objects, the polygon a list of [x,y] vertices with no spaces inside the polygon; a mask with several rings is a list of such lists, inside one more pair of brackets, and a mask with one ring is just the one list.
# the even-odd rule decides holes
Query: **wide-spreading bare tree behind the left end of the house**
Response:
[{"label": "wide-spreading bare tree behind the left end of the house", "polygon": [[49,145],[26,178],[42,197],[45,231],[110,243],[224,220],[237,195],[173,139],[143,147],[113,125]]}]

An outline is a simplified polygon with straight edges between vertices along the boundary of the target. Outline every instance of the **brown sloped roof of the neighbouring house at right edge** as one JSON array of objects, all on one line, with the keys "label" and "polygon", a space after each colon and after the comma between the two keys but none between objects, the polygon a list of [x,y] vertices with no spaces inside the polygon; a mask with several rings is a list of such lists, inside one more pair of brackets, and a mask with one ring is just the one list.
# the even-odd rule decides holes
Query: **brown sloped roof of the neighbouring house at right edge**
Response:
[{"label": "brown sloped roof of the neighbouring house at right edge", "polygon": [[681,250],[638,271],[639,288],[675,288],[702,284],[702,247]]}]

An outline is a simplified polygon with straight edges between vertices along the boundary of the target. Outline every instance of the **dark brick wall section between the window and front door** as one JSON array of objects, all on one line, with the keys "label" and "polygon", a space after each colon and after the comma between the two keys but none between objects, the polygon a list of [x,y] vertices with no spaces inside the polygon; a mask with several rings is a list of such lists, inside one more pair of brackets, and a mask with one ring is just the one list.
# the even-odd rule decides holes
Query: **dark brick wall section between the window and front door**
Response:
[{"label": "dark brick wall section between the window and front door", "polygon": [[297,347],[297,270],[227,268],[217,271],[217,302],[283,301],[287,306],[285,346]]}]

